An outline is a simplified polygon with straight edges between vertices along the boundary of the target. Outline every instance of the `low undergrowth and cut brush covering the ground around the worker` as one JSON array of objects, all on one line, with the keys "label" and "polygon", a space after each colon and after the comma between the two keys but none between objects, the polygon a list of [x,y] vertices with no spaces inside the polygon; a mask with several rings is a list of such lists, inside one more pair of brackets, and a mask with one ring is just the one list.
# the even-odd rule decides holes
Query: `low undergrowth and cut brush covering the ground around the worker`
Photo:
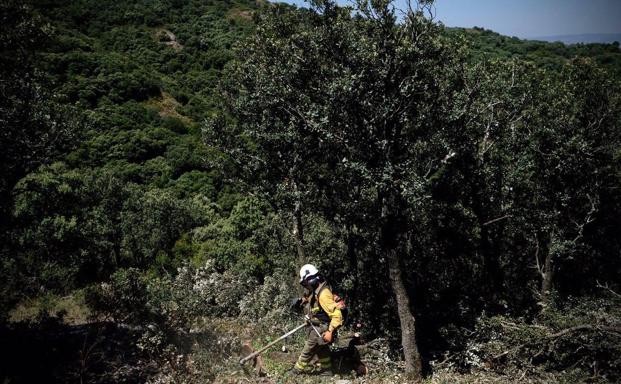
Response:
[{"label": "low undergrowth and cut brush covering the ground around the worker", "polygon": [[[252,293],[229,287],[229,281],[234,279],[221,278],[209,266],[185,266],[175,277],[158,279],[128,269],[87,291],[24,301],[1,330],[7,364],[0,378],[11,383],[43,377],[152,384],[411,382],[403,362],[395,359],[394,340],[371,339],[364,330],[355,349],[368,368],[364,376],[347,366],[333,377],[292,376],[304,330],[263,353],[258,366],[240,366],[244,345],[258,350],[301,319],[283,309],[291,293],[277,279],[266,279]],[[465,348],[431,361],[422,382],[619,382],[620,325],[616,296],[558,301],[533,319],[482,316],[463,336]],[[351,332],[341,334],[346,340]],[[342,345],[335,345],[335,354],[337,347]],[[25,362],[36,369],[26,370]]]}]

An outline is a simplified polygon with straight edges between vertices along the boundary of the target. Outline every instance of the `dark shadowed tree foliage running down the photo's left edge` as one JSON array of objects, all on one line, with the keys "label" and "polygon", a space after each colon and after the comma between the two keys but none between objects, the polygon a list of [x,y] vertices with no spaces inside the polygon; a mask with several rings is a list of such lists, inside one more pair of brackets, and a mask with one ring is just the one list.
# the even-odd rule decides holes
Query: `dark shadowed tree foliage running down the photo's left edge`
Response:
[{"label": "dark shadowed tree foliage running down the photo's left edge", "polygon": [[[75,108],[58,103],[38,70],[35,53],[49,43],[49,26],[20,1],[2,2],[0,14],[0,273],[14,276],[19,263],[10,236],[11,190],[29,172],[76,145],[81,119]],[[20,281],[7,278],[0,286],[3,319],[17,300]]]}]

